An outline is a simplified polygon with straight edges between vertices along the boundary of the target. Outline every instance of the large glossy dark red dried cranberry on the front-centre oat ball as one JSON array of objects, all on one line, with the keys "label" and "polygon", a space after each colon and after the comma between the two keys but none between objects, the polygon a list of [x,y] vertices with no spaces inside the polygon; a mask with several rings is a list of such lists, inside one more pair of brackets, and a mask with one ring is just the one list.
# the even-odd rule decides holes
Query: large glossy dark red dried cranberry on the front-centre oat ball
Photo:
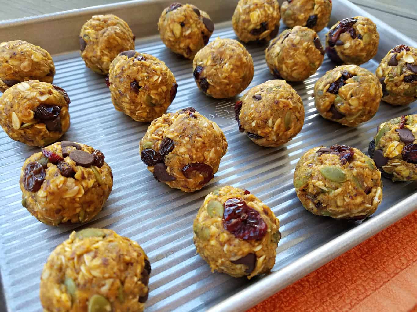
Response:
[{"label": "large glossy dark red dried cranberry on the front-centre oat ball", "polygon": [[259,212],[241,198],[229,198],[224,203],[223,226],[242,240],[260,240],[268,230]]}]

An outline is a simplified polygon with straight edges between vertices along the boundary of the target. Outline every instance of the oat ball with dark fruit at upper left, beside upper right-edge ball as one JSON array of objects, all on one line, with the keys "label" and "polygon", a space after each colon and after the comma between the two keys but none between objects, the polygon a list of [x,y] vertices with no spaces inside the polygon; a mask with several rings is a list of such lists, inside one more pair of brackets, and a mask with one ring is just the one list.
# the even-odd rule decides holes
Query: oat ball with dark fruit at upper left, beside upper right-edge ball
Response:
[{"label": "oat ball with dark fruit at upper left, beside upper right-edge ball", "polygon": [[329,70],[314,85],[314,104],[323,118],[355,127],[377,112],[382,98],[378,78],[356,65]]}]

